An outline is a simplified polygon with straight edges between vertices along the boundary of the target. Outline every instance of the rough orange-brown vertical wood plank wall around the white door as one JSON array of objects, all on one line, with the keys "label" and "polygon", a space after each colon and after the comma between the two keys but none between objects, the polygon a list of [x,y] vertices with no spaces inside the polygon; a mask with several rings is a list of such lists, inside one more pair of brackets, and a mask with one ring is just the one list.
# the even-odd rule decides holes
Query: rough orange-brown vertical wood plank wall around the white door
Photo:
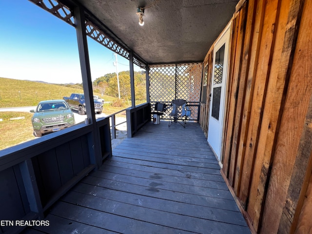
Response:
[{"label": "rough orange-brown vertical wood plank wall around the white door", "polygon": [[241,0],[232,19],[221,174],[253,233],[312,233],[311,12]]}]

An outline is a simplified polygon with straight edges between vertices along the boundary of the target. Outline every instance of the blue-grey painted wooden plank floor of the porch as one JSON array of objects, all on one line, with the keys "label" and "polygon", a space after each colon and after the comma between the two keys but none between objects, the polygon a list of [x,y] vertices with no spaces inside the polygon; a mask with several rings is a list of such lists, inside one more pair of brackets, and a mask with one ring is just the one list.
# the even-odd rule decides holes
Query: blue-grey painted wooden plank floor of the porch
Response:
[{"label": "blue-grey painted wooden plank floor of the porch", "polygon": [[247,234],[199,124],[148,123],[24,233]]}]

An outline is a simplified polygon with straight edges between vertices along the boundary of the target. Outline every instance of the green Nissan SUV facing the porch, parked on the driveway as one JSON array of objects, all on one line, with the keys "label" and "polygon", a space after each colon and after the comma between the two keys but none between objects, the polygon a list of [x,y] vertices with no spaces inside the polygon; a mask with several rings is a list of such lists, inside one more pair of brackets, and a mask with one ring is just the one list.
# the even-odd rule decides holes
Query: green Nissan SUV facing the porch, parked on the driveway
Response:
[{"label": "green Nissan SUV facing the porch, parked on the driveway", "polygon": [[40,101],[35,113],[31,118],[34,136],[41,137],[43,134],[56,132],[75,124],[72,110],[64,100]]}]

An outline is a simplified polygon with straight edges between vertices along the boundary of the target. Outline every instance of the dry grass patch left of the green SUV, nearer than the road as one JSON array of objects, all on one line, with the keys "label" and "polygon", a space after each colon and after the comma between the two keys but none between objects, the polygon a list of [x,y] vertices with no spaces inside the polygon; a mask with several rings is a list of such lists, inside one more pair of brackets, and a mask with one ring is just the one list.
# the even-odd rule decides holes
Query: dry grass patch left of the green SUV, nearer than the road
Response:
[{"label": "dry grass patch left of the green SUV, nearer than the road", "polygon": [[[27,112],[0,112],[0,150],[35,139],[31,117]],[[10,120],[10,118],[25,117],[24,119]]]}]

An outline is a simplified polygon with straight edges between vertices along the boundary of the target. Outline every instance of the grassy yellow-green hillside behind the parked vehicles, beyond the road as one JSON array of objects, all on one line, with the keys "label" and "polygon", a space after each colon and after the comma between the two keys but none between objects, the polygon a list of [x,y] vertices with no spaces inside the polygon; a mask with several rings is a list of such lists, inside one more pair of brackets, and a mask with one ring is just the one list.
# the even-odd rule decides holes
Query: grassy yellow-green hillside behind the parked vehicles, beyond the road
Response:
[{"label": "grassy yellow-green hillside behind the parked vehicles, beyond the road", "polygon": [[[0,78],[0,108],[36,106],[41,100],[62,99],[72,93],[83,93],[82,87],[69,85],[67,87],[59,84],[46,82]],[[99,95],[95,93],[95,95]],[[111,97],[104,99],[111,99]]]}]

